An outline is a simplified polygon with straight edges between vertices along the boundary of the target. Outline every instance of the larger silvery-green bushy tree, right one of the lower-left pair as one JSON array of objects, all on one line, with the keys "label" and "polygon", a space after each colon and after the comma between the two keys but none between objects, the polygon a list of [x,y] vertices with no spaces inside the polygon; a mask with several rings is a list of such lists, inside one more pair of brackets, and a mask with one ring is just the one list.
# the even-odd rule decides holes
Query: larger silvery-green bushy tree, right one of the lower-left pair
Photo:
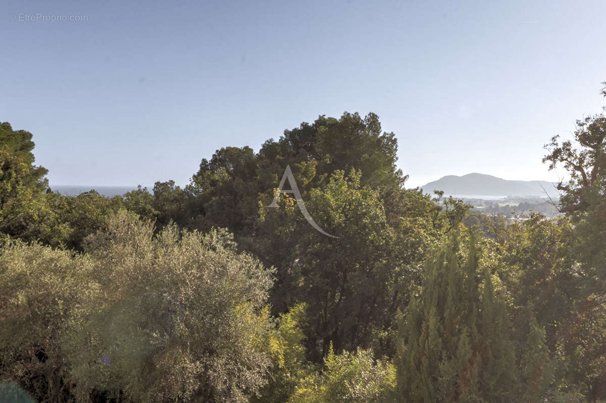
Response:
[{"label": "larger silvery-green bushy tree, right one of the lower-left pair", "polygon": [[78,384],[136,401],[244,402],[265,384],[271,274],[207,235],[121,212],[87,238],[95,261],[70,333]]}]

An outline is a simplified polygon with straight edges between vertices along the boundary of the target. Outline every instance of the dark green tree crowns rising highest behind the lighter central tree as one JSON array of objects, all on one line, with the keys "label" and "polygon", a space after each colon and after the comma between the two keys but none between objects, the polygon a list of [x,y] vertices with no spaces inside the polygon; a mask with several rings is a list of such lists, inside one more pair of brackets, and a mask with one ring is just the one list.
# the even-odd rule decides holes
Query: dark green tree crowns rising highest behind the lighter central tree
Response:
[{"label": "dark green tree crowns rising highest behind the lighter central tree", "polygon": [[287,165],[314,166],[315,174],[304,186],[320,186],[337,170],[358,169],[363,185],[393,188],[406,179],[396,169],[397,150],[394,134],[381,132],[376,114],[362,118],[347,112],[339,119],[320,116],[313,124],[285,130],[277,142],[267,140],[258,154],[248,146],[221,148],[210,160],[203,159],[192,177],[190,217],[195,228],[221,226],[238,238],[251,235],[259,195],[264,198],[275,189]]}]

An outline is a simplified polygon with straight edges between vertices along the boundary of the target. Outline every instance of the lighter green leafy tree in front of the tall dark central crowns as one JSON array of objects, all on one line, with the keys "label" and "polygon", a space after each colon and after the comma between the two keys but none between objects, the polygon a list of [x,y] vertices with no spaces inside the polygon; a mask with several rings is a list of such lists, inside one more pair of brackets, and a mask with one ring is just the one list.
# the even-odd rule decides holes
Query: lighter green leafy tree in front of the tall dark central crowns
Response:
[{"label": "lighter green leafy tree in front of the tall dark central crowns", "polygon": [[[305,183],[305,180],[302,181]],[[311,188],[306,206],[327,239],[305,221],[291,197],[278,208],[260,203],[251,249],[278,267],[272,304],[279,310],[308,305],[306,344],[313,361],[358,346],[389,353],[391,324],[407,290],[418,281],[418,262],[433,228],[431,217],[389,223],[381,193],[361,185],[360,172],[336,171],[322,188]]]}]

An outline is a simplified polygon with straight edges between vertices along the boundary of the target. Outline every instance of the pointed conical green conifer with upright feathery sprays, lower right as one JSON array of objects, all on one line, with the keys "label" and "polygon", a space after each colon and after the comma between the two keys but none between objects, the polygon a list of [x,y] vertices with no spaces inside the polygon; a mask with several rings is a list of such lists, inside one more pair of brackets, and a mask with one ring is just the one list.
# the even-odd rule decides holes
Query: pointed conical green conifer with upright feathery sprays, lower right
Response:
[{"label": "pointed conical green conifer with upright feathery sprays, lower right", "polygon": [[421,295],[399,317],[399,401],[507,402],[516,393],[504,304],[479,269],[473,235],[465,247],[459,237],[428,259]]}]

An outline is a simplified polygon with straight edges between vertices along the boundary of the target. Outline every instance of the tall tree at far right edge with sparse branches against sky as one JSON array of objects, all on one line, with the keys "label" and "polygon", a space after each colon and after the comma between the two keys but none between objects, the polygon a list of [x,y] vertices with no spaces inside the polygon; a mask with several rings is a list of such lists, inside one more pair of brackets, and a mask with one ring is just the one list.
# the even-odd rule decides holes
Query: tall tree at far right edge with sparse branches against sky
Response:
[{"label": "tall tree at far right edge with sparse branches against sky", "polygon": [[[602,90],[604,93],[605,90]],[[570,370],[576,382],[587,385],[588,396],[606,399],[606,117],[603,114],[577,121],[574,142],[559,143],[553,137],[546,148],[544,162],[550,169],[564,166],[570,174],[563,192],[561,211],[574,224],[567,242],[579,287],[573,318],[567,323],[562,338],[568,346],[567,358],[575,367]],[[574,350],[576,349],[576,351]],[[571,367],[574,368],[574,367]]]}]

